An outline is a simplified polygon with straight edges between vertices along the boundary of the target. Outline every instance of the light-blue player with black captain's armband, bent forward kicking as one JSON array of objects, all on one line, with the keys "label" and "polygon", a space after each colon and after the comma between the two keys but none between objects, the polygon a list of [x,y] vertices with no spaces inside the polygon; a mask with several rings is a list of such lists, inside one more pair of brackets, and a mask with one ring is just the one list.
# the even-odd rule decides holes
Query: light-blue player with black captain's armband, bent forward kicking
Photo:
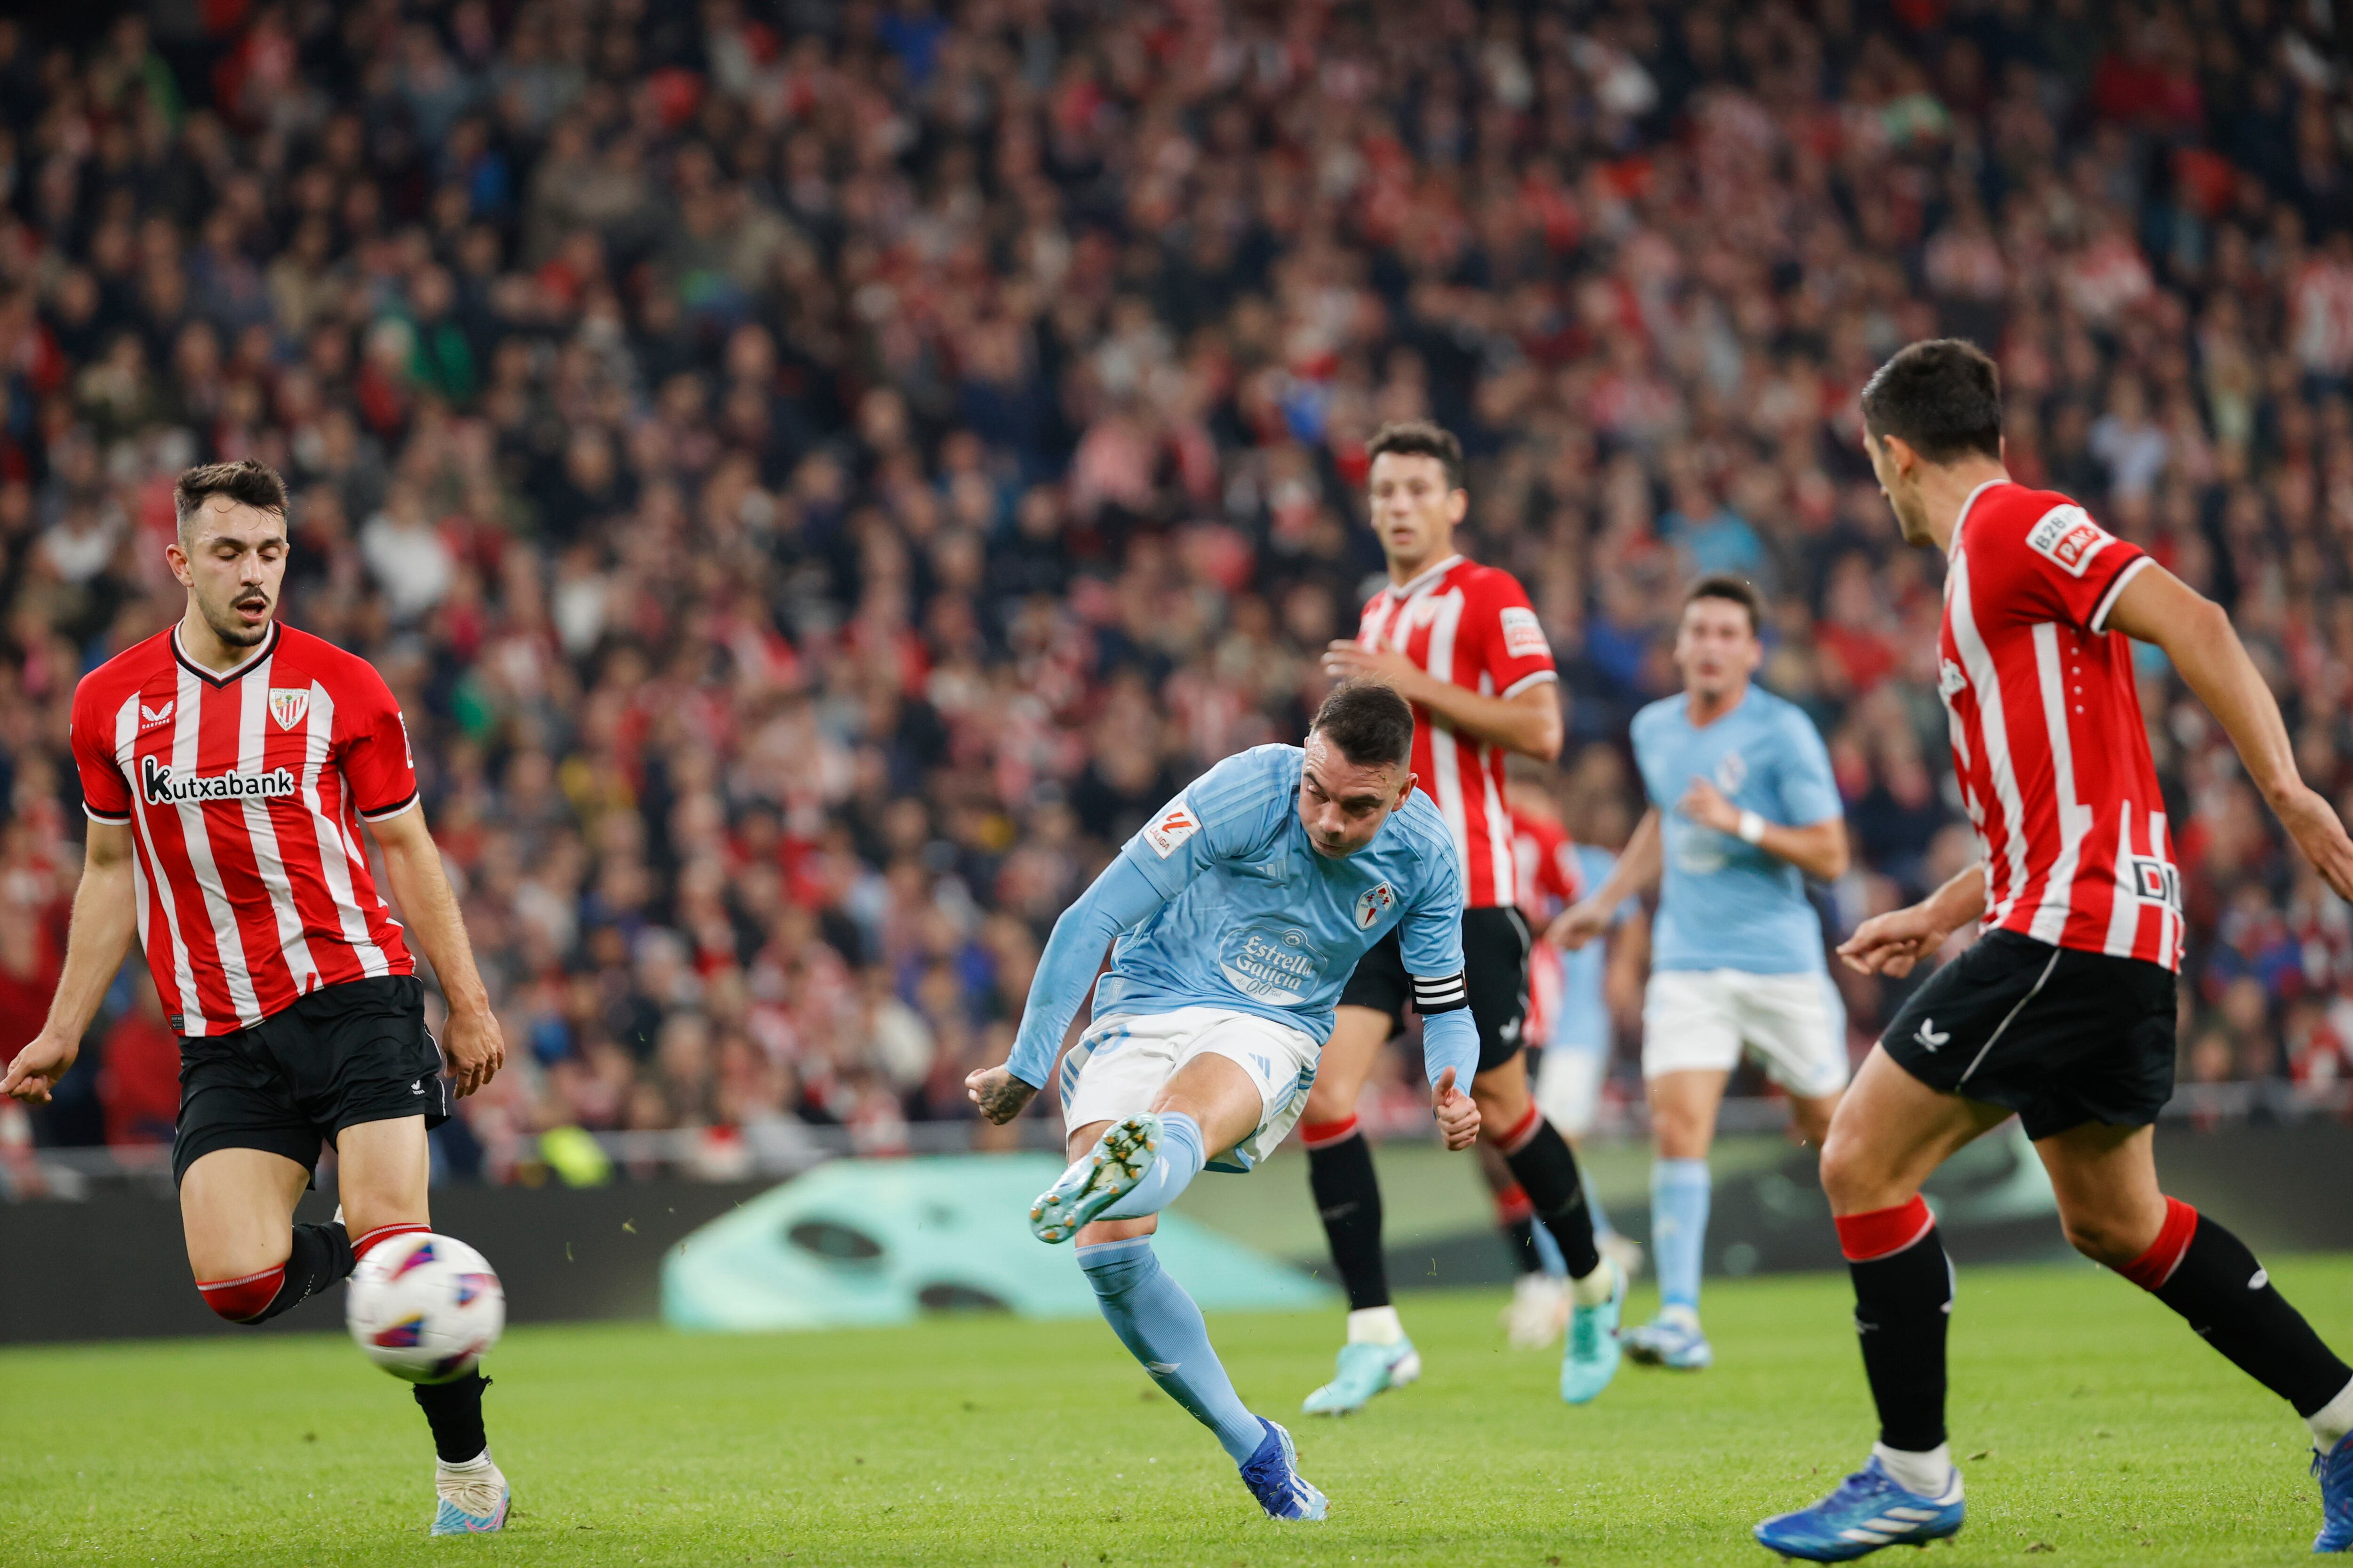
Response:
[{"label": "light-blue player with black captain's armband, bent forward kicking", "polygon": [[1322,1519],[1325,1495],[1299,1476],[1289,1434],[1233,1392],[1200,1307],[1153,1255],[1153,1215],[1205,1166],[1249,1171],[1282,1143],[1341,983],[1379,940],[1400,943],[1428,1018],[1445,1143],[1478,1138],[1480,1110],[1457,1088],[1478,1060],[1461,875],[1445,820],[1414,795],[1412,743],[1395,691],[1344,684],[1304,750],[1261,745],[1186,785],[1054,922],[1012,1058],[965,1079],[991,1121],[1016,1117],[1094,987],[1092,1025],[1059,1074],[1073,1164],[1038,1197],[1031,1229],[1078,1237],[1113,1333],[1217,1434],[1273,1519]]}]

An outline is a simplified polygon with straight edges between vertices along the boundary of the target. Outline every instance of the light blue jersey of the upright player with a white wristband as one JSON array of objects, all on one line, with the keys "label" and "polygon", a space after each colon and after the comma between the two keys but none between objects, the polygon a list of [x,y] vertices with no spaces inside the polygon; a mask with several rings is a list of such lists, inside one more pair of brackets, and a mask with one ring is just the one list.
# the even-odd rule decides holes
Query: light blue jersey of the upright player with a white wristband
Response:
[{"label": "light blue jersey of the upright player with a white wristband", "polygon": [[1805,872],[1675,809],[1694,778],[1713,778],[1734,806],[1767,823],[1809,827],[1840,816],[1831,752],[1814,722],[1795,703],[1748,686],[1732,712],[1694,729],[1687,698],[1671,696],[1633,717],[1633,762],[1659,809],[1664,858],[1649,966],[1824,973],[1821,919],[1805,898]]}]

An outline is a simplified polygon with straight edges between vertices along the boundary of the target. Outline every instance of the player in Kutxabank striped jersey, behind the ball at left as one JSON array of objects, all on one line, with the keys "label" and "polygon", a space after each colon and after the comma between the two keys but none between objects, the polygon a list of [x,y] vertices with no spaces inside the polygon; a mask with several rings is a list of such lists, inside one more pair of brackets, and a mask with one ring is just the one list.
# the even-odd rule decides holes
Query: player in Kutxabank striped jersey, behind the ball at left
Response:
[{"label": "player in Kutxabank striped jersey, behind the ball at left", "polygon": [[[49,1098],[136,936],[181,1037],[172,1178],[188,1267],[207,1307],[261,1324],[372,1246],[428,1229],[426,1131],[449,1117],[449,1084],[362,820],[449,999],[456,1093],[506,1053],[393,693],[362,658],[275,621],[285,482],[214,463],[184,473],[174,503],[167,557],[188,614],[73,693],[82,884],[49,1018],[0,1091]],[[336,1150],[344,1208],[294,1225],[320,1143]],[[506,1523],[485,1387],[480,1373],[416,1387],[440,1453],[435,1535]]]}]

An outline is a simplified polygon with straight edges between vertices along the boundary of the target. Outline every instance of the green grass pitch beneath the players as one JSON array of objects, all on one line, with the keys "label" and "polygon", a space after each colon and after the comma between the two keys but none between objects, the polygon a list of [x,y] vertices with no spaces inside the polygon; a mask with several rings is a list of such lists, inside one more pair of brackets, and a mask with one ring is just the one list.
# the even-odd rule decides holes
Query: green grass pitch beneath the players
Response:
[{"label": "green grass pitch beneath the players", "polygon": [[[2282,1258],[2275,1276],[2353,1342],[2353,1258]],[[1969,1526],[1922,1561],[2308,1552],[2301,1422],[2165,1307],[2087,1265],[1969,1269],[1960,1288]],[[513,1521],[438,1542],[424,1418],[341,1333],[9,1349],[0,1561],[1769,1568],[1748,1526],[1812,1502],[1871,1439],[1840,1276],[1711,1286],[1715,1371],[1628,1366],[1581,1410],[1558,1401],[1551,1356],[1504,1347],[1499,1305],[1405,1298],[1428,1373],[1341,1422],[1292,1415],[1329,1368],[1337,1314],[1212,1324],[1242,1394],[1292,1427],[1332,1495],[1322,1526],[1261,1519],[1094,1321],[515,1331],[487,1368]]]}]

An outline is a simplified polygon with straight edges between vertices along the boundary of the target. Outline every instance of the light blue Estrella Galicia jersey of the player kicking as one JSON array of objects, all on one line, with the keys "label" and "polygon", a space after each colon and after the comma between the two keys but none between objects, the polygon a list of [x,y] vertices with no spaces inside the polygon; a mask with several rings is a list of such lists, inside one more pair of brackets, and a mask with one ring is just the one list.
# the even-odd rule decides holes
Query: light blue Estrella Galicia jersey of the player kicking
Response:
[{"label": "light blue Estrella Galicia jersey of the player kicking", "polygon": [[[1391,929],[1409,976],[1461,973],[1461,865],[1438,806],[1414,790],[1365,849],[1318,853],[1299,823],[1304,759],[1297,745],[1226,757],[1120,849],[1054,924],[1005,1063],[1016,1079],[1045,1084],[1111,933],[1096,1018],[1221,1006],[1325,1041],[1355,961]],[[1461,1032],[1468,1084],[1478,1046]]]}]

